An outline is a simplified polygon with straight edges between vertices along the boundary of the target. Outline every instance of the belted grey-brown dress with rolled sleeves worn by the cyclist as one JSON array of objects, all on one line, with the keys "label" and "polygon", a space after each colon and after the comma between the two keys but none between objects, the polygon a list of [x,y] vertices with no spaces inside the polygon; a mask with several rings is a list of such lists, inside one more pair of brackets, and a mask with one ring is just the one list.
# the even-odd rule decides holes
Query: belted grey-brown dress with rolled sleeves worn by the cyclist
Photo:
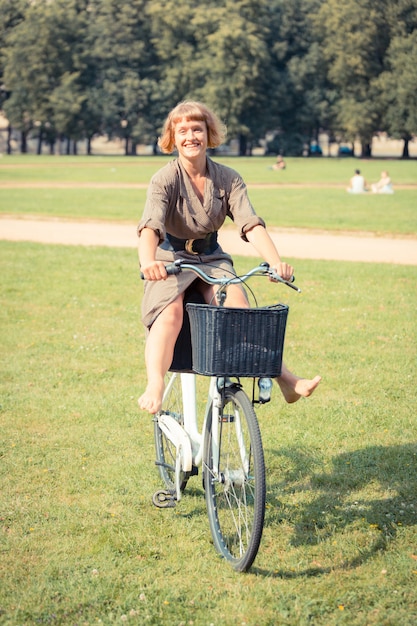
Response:
[{"label": "belted grey-brown dress with rolled sleeves worn by the cyclist", "polygon": [[[264,221],[255,214],[246,185],[233,169],[207,158],[207,175],[202,204],[195,193],[188,174],[178,159],[170,161],[152,177],[145,209],[137,232],[151,228],[159,236],[160,244],[169,233],[180,239],[202,239],[217,232],[226,217],[230,217],[247,241],[246,232]],[[233,273],[231,257],[218,246],[211,254],[194,255],[185,250],[173,252],[158,246],[156,258],[167,263],[184,259],[200,263],[211,276]],[[210,265],[206,265],[210,264]],[[142,321],[150,327],[159,313],[184,293],[196,279],[192,272],[169,276],[163,281],[145,281],[142,301]]]}]

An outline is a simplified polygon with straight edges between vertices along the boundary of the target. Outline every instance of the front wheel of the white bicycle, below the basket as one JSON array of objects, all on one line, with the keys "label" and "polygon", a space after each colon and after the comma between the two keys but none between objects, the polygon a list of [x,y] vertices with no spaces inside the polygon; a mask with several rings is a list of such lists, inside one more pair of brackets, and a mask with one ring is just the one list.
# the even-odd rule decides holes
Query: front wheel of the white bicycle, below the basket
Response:
[{"label": "front wheel of the white bicycle, below the basket", "polygon": [[[237,385],[224,390],[219,417],[219,473],[213,465],[212,409],[207,416],[203,480],[214,546],[239,572],[256,558],[265,517],[265,460],[258,420]],[[242,461],[242,445],[246,461]]]}]

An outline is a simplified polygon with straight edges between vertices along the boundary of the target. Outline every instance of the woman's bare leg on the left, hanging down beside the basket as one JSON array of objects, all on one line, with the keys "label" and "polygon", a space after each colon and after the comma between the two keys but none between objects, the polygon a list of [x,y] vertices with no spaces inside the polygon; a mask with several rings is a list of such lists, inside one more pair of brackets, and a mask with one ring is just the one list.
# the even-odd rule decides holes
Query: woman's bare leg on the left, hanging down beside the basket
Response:
[{"label": "woman's bare leg on the left, hanging down beside the basket", "polygon": [[156,318],[146,341],[148,384],[138,400],[141,409],[157,413],[162,406],[164,377],[172,363],[175,343],[182,326],[183,297],[178,296]]}]

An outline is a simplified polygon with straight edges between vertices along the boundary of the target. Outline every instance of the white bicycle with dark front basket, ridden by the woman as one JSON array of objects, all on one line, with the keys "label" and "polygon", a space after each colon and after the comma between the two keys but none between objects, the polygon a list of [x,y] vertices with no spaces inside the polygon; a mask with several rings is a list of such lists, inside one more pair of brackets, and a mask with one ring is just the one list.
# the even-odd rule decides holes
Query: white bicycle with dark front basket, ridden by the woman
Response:
[{"label": "white bicycle with dark front basket, ridden by the woman", "polygon": [[[189,478],[202,466],[214,546],[236,571],[246,572],[260,546],[266,497],[265,460],[254,406],[269,401],[270,378],[281,373],[288,306],[235,309],[225,307],[224,302],[229,285],[244,284],[253,276],[268,276],[300,289],[275,274],[267,263],[243,276],[221,279],[182,260],[166,269],[168,274],[193,271],[218,285],[219,306],[185,304],[192,365],[178,368],[174,358],[162,408],[154,416],[155,463],[165,489],[158,490],[152,500],[160,508],[175,506]],[[196,396],[199,374],[210,377],[201,431]],[[253,379],[251,399],[242,388],[243,377]],[[263,385],[267,381],[270,385]]]}]

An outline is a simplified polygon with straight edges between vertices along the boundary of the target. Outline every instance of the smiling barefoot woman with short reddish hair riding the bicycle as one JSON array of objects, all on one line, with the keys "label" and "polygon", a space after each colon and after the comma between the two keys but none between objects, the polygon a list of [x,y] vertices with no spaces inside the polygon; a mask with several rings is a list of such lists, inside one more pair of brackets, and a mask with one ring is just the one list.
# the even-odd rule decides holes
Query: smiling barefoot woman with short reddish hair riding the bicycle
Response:
[{"label": "smiling barefoot woman with short reddish hair riding the bicycle", "polygon": [[[165,153],[176,148],[178,158],[151,179],[143,217],[138,226],[139,261],[146,279],[142,319],[149,329],[145,361],[148,384],[139,406],[157,413],[162,404],[168,371],[183,319],[184,292],[195,283],[206,302],[216,287],[196,280],[192,272],[169,276],[165,265],[174,259],[201,263],[212,276],[233,272],[231,257],[217,243],[217,231],[227,216],[244,241],[284,279],[293,268],[280,259],[265,224],[250,204],[246,185],[237,172],[207,157],[207,148],[223,143],[217,116],[200,102],[182,102],[168,115],[159,146]],[[209,264],[209,265],[206,265]],[[248,307],[239,285],[228,289],[226,305]],[[311,395],[321,378],[309,380],[292,374],[283,364],[277,379],[287,402]]]}]

